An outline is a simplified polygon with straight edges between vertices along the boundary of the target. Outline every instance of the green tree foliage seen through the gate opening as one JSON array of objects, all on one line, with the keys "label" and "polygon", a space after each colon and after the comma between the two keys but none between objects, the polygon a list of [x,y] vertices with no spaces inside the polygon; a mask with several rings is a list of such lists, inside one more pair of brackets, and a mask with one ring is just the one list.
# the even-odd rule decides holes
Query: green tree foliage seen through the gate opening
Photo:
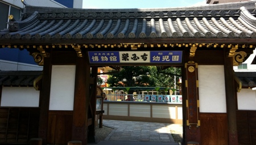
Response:
[{"label": "green tree foliage seen through the gate opening", "polygon": [[[112,71],[114,72],[114,71]],[[108,78],[109,87],[174,87],[175,75],[181,75],[181,69],[168,67],[160,69],[160,66],[123,66]],[[176,77],[176,81],[179,76]]]}]

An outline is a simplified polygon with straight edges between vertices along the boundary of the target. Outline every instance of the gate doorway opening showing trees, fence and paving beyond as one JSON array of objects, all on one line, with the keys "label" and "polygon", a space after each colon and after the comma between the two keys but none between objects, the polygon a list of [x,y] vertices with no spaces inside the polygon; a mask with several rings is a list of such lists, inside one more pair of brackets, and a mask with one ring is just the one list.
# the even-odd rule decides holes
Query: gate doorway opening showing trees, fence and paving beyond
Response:
[{"label": "gate doorway opening showing trees, fence and paving beyond", "polygon": [[181,143],[181,66],[99,66],[97,84],[106,97],[96,137],[112,127],[104,139]]}]

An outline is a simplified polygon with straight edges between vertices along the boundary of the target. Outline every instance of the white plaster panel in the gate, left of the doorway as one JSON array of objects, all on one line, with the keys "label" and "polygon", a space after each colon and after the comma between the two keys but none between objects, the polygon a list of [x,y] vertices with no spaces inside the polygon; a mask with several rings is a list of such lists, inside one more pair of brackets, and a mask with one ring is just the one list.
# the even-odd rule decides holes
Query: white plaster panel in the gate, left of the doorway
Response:
[{"label": "white plaster panel in the gate, left of the doorway", "polygon": [[49,110],[73,110],[75,65],[53,65]]}]

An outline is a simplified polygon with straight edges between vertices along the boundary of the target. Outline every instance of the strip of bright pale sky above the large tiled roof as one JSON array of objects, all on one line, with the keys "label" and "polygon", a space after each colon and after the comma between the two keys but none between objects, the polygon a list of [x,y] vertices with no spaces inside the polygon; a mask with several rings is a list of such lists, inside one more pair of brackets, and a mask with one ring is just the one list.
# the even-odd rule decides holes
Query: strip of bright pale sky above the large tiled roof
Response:
[{"label": "strip of bright pale sky above the large tiled roof", "polygon": [[165,8],[206,5],[205,0],[83,0],[82,8]]}]

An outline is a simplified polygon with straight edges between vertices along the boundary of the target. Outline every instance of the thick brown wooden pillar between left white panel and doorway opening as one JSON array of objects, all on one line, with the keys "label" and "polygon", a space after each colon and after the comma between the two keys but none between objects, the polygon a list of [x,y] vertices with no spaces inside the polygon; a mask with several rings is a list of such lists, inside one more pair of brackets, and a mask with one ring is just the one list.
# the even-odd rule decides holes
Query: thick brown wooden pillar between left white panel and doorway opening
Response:
[{"label": "thick brown wooden pillar between left white panel and doorway opening", "polygon": [[90,66],[85,57],[76,59],[72,140],[87,144]]}]

